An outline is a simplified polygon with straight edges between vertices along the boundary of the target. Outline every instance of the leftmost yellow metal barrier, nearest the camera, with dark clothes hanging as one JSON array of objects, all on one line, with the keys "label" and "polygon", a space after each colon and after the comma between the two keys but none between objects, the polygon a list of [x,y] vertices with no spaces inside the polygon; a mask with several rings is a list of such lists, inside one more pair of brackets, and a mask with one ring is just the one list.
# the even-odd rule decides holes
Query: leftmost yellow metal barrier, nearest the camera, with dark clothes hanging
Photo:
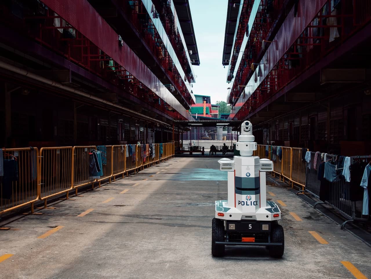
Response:
[{"label": "leftmost yellow metal barrier, nearest the camera, with dark clothes hanging", "polygon": [[0,188],[0,214],[31,204],[39,199],[39,150],[3,149],[4,176]]}]

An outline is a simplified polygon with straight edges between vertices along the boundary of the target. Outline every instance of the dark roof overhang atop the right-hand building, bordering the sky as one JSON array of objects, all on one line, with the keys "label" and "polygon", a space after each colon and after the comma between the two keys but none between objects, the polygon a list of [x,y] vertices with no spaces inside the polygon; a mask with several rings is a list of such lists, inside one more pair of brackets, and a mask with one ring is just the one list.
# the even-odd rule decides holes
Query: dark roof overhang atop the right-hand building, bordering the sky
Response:
[{"label": "dark roof overhang atop the right-hand building, bordering the sky", "polygon": [[234,32],[236,30],[240,0],[228,0],[226,33],[224,36],[222,65],[229,65],[229,59],[233,47]]}]

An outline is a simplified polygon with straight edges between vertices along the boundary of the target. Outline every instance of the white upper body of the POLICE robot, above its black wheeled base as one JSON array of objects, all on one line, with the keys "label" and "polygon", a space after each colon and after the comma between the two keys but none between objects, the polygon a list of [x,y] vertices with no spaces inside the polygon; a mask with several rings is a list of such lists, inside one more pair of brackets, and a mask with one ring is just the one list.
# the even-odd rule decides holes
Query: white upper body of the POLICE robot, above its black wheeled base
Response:
[{"label": "white upper body of the POLICE robot, above its black wheeled base", "polygon": [[215,217],[223,220],[274,221],[281,212],[273,201],[266,200],[266,171],[273,171],[273,162],[252,156],[257,144],[252,125],[245,121],[236,143],[240,156],[219,160],[220,170],[228,171],[228,200],[215,201]]}]

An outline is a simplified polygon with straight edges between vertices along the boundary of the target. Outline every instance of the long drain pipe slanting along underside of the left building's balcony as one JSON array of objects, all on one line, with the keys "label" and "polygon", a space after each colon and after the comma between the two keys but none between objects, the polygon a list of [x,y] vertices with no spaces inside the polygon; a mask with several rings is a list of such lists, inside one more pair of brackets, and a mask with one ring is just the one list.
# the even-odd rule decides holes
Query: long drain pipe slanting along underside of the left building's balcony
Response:
[{"label": "long drain pipe slanting along underside of the left building's balcony", "polygon": [[128,109],[128,108],[125,108],[124,106],[117,105],[117,104],[112,103],[112,102],[109,102],[109,101],[107,101],[105,99],[101,99],[101,98],[98,98],[96,96],[93,96],[93,95],[91,95],[89,93],[85,93],[85,92],[83,92],[81,90],[78,90],[78,89],[75,89],[75,88],[72,88],[72,87],[63,85],[60,82],[52,81],[51,79],[44,78],[42,76],[36,75],[35,73],[30,73],[27,70],[21,69],[21,68],[19,68],[17,66],[10,65],[8,63],[4,63],[3,61],[0,61],[0,68],[6,69],[6,70],[10,70],[10,71],[12,71],[14,73],[18,73],[18,74],[23,75],[23,76],[27,76],[27,77],[29,77],[31,79],[35,79],[36,81],[40,81],[40,82],[46,83],[47,85],[51,85],[51,86],[54,86],[54,87],[63,89],[65,91],[68,91],[68,92],[71,92],[71,93],[75,93],[77,95],[80,95],[80,96],[85,97],[85,98],[89,98],[89,99],[94,100],[94,101],[97,101],[99,103],[103,103],[103,104],[112,106],[114,108],[121,109],[121,110],[123,110],[125,112],[129,112],[130,114],[135,114],[135,115],[137,115],[137,116],[139,116],[141,118],[149,119],[151,121],[158,122],[158,123],[161,123],[161,124],[166,125],[166,126],[170,126],[169,124],[167,124],[165,122],[162,122],[160,120],[155,120],[155,119],[153,119],[151,117],[148,117],[146,115],[140,114],[139,112],[133,111],[133,110]]}]

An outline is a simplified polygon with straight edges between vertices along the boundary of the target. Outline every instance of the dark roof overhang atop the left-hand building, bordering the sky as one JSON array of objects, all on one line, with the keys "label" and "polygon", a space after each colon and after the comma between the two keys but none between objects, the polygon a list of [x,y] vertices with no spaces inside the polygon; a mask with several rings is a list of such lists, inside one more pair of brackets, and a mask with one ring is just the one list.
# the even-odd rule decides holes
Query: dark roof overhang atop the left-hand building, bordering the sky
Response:
[{"label": "dark roof overhang atop the left-hand building, bordering the sky", "polygon": [[191,50],[190,55],[192,65],[200,65],[200,57],[198,56],[198,49],[196,43],[196,36],[194,35],[194,28],[191,16],[191,10],[189,7],[188,0],[176,0],[174,1],[177,16],[182,29],[185,44],[187,45],[188,51]]}]

